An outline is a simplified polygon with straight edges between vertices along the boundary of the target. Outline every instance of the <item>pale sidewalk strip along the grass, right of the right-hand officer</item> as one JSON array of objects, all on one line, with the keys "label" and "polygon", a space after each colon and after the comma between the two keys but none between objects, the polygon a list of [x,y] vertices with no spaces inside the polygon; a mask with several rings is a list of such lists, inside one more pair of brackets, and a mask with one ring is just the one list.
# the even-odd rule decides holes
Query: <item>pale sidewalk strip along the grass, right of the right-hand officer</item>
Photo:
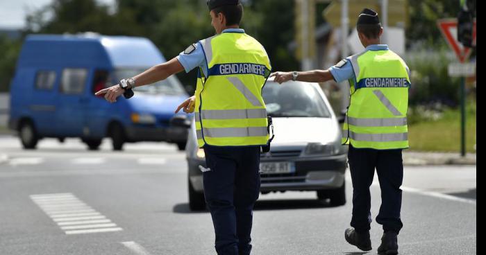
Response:
[{"label": "pale sidewalk strip along the grass, right of the right-hand officer", "polygon": [[467,153],[466,157],[461,157],[460,153],[405,150],[403,164],[405,166],[476,165],[476,153]]}]

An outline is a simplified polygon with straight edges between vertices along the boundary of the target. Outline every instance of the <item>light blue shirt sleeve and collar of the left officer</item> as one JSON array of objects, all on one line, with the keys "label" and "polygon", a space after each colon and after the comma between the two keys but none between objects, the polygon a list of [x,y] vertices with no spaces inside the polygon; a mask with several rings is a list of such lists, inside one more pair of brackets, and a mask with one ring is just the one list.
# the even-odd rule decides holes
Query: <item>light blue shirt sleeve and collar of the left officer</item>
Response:
[{"label": "light blue shirt sleeve and collar of the left officer", "polygon": [[[223,33],[244,33],[241,28],[228,28],[223,30]],[[177,56],[177,60],[183,65],[185,72],[189,73],[196,67],[201,67],[204,72],[204,76],[208,77],[208,63],[206,63],[206,56],[204,55],[203,46],[197,42],[194,44],[195,49],[190,53],[181,52]]]}]

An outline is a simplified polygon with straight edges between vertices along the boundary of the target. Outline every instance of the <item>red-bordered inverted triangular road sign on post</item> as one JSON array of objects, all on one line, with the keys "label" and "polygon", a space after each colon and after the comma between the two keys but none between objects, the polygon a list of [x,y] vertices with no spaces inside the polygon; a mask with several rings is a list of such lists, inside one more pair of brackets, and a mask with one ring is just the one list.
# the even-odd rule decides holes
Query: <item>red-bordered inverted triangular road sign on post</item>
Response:
[{"label": "red-bordered inverted triangular road sign on post", "polygon": [[[440,19],[437,21],[437,25],[439,25],[442,35],[446,38],[458,60],[464,63],[471,55],[471,48],[462,46],[458,41],[458,19]],[[476,45],[476,19],[474,19],[473,44]]]}]

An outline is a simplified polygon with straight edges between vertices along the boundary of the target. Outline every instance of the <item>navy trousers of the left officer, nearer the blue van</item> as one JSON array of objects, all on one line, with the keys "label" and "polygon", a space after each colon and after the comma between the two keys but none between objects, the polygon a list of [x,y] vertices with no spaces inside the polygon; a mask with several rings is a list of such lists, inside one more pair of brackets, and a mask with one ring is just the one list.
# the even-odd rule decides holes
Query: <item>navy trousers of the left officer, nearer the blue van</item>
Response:
[{"label": "navy trousers of the left officer, nearer the blue van", "polygon": [[260,146],[205,146],[204,197],[218,255],[251,252],[253,205],[260,195]]}]

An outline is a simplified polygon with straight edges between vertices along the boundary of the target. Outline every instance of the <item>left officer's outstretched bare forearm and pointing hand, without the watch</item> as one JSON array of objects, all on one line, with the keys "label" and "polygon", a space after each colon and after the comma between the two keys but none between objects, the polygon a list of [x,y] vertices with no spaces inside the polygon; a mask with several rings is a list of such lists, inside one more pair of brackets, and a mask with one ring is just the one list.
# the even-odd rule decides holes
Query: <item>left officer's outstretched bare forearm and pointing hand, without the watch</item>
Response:
[{"label": "left officer's outstretched bare forearm and pointing hand, without the watch", "polygon": [[[183,71],[184,67],[182,66],[181,62],[177,60],[177,58],[173,58],[168,62],[163,64],[158,64],[155,67],[151,67],[147,69],[143,73],[133,77],[135,80],[135,87],[140,87],[144,85],[152,84],[153,82],[158,82],[159,80],[165,80],[169,76]],[[124,89],[122,89],[119,85],[114,85],[112,87],[108,87],[106,89],[101,89],[95,95],[105,95],[105,99],[110,103],[115,103],[117,98],[124,94]]]}]

